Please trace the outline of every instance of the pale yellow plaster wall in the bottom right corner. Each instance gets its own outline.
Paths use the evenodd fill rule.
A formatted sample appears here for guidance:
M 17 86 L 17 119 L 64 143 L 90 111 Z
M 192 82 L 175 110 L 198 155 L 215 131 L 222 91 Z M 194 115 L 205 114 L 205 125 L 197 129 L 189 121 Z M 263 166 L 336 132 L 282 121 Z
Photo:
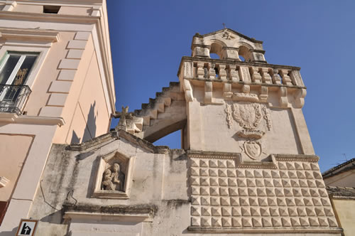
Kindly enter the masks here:
M 333 208 L 337 213 L 340 227 L 344 229 L 345 236 L 354 235 L 355 232 L 355 200 L 333 199 Z

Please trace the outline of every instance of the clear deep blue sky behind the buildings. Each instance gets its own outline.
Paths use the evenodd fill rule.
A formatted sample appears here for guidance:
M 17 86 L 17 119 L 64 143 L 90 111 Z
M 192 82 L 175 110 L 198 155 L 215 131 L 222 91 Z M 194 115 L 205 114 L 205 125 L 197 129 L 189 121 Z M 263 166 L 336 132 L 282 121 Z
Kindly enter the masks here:
M 303 113 L 321 170 L 355 157 L 355 1 L 107 0 L 107 8 L 118 110 L 140 109 L 178 81 L 192 36 L 226 23 L 263 41 L 268 63 L 301 68 Z M 179 135 L 155 144 L 180 148 Z

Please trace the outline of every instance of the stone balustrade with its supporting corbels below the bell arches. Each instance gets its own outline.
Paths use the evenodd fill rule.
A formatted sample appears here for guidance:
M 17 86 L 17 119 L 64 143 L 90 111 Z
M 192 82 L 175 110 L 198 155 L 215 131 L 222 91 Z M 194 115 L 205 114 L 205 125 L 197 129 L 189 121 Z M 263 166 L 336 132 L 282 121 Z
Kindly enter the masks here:
M 223 100 L 268 102 L 271 90 L 278 94 L 278 104 L 273 106 L 285 108 L 293 102 L 293 107 L 302 108 L 305 104 L 306 87 L 300 68 L 293 66 L 183 57 L 178 77 L 187 102 L 195 99 L 193 85 L 204 82 L 204 104 L 223 104 Z M 217 99 L 212 93 L 215 86 L 221 88 L 214 85 L 219 82 L 223 96 Z M 291 100 L 289 95 L 293 96 Z

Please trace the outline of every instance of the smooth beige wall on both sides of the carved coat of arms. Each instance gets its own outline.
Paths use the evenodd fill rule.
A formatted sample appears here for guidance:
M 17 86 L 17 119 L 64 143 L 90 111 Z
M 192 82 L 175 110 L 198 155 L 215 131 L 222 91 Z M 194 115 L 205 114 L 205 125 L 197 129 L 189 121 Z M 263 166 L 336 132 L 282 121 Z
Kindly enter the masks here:
M 189 102 L 190 148 L 204 151 L 224 151 L 242 153 L 244 139 L 236 132 L 242 127 L 232 118 L 231 127 L 226 121 L 225 104 L 204 104 L 204 90 L 195 87 L 196 100 Z M 221 97 L 215 92 L 215 99 Z M 201 103 L 200 103 L 201 102 Z M 221 102 L 222 103 L 222 102 Z M 262 104 L 263 105 L 263 104 Z M 261 119 L 256 129 L 265 132 L 259 140 L 263 147 L 263 155 L 269 154 L 302 154 L 297 136 L 295 118 L 291 109 L 280 109 L 266 105 L 271 118 L 271 130 L 266 127 L 266 120 Z

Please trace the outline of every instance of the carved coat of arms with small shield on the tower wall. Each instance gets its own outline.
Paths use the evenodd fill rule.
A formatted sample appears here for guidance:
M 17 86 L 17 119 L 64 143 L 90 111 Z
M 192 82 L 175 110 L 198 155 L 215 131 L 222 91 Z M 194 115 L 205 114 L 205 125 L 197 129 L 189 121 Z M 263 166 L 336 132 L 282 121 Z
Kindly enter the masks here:
M 232 129 L 234 122 L 241 127 L 236 135 L 244 140 L 241 145 L 243 154 L 253 161 L 260 161 L 261 154 L 265 152 L 261 139 L 271 130 L 271 119 L 266 105 L 256 102 L 226 102 L 224 111 L 229 129 Z

